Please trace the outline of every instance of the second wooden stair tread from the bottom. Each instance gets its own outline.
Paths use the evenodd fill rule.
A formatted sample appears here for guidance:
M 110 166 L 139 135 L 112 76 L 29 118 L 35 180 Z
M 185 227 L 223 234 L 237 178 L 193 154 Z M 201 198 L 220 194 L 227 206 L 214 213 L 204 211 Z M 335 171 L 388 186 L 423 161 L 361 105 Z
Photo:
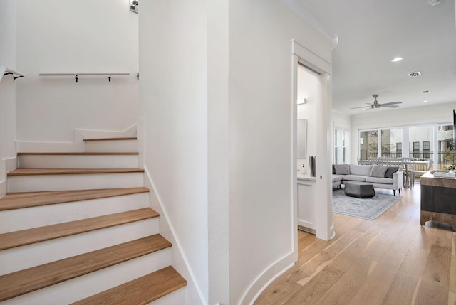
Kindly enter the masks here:
M 170 246 L 171 243 L 169 241 L 157 234 L 5 274 L 0 276 L 0 301 L 73 279 L 83 274 L 95 272 Z

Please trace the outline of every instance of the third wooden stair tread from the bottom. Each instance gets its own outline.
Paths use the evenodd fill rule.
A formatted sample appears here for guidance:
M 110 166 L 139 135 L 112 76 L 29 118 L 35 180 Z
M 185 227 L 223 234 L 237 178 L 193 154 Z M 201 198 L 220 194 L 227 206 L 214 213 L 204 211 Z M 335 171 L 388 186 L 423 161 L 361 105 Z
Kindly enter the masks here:
M 134 221 L 145 220 L 157 216 L 158 213 L 155 212 L 155 210 L 152 210 L 151 208 L 142 208 L 139 210 L 130 210 L 128 212 L 74 220 L 68 223 L 58 223 L 56 225 L 46 225 L 38 228 L 3 233 L 0 234 L 0 250 L 109 228 L 124 223 L 133 223 Z

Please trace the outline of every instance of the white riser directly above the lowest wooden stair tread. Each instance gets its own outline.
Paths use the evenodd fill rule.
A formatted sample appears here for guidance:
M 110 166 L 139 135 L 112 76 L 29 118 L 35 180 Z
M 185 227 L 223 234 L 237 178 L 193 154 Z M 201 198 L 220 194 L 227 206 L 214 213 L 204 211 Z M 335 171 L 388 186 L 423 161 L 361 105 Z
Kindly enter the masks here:
M 167 267 L 170 264 L 170 257 L 170 248 L 167 248 L 38 291 L 33 291 L 23 296 L 18 296 L 1 304 L 70 304 Z

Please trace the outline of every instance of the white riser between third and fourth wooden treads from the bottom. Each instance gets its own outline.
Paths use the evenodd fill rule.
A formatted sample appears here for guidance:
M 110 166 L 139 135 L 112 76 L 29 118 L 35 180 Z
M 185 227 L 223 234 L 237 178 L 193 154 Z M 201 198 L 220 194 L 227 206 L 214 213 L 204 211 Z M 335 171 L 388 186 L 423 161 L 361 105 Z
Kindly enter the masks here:
M 0 233 L 26 230 L 56 223 L 148 208 L 149 193 L 4 210 L 0 213 Z

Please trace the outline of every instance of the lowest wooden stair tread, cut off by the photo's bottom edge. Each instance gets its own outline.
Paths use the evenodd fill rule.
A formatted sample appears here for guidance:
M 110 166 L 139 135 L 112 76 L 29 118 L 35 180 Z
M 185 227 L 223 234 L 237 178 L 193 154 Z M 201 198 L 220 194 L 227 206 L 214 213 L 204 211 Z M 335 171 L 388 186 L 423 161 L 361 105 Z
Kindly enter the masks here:
M 173 267 L 168 266 L 71 305 L 149 304 L 186 285 L 187 281 Z

